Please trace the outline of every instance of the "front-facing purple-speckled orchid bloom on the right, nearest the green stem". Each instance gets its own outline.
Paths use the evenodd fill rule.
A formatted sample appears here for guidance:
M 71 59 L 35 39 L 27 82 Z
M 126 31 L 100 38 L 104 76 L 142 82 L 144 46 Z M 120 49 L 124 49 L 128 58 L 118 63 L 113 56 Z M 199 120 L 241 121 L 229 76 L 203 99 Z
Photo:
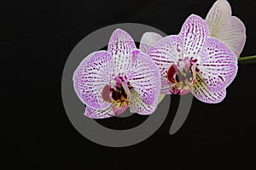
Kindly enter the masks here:
M 195 14 L 178 35 L 160 39 L 147 53 L 160 69 L 161 94 L 191 92 L 202 102 L 218 103 L 236 77 L 236 54 L 210 37 L 207 23 Z

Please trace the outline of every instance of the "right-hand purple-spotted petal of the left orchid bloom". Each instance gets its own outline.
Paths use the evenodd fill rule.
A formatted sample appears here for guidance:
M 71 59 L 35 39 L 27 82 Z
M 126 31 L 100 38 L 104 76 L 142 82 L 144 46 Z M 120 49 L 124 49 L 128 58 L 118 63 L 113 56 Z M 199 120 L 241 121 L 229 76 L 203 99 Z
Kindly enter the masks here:
M 160 94 L 160 72 L 148 54 L 140 50 L 132 52 L 131 69 L 127 80 L 147 105 L 152 105 Z

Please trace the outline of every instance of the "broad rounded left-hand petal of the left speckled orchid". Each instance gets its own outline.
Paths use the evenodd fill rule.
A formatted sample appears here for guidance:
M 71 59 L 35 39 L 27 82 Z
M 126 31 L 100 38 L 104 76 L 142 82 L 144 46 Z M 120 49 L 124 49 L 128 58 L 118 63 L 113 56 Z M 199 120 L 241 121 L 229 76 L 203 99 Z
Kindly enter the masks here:
M 112 57 L 107 51 L 87 56 L 73 74 L 73 85 L 79 99 L 94 109 L 107 109 L 110 103 L 102 99 L 102 89 L 113 75 Z

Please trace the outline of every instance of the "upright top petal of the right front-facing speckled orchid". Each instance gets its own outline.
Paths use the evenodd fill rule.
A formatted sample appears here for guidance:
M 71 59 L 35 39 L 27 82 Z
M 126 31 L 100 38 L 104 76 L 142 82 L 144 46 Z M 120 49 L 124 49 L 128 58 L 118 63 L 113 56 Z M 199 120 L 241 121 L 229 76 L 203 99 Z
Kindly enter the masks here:
M 183 37 L 183 57 L 200 60 L 201 48 L 209 35 L 205 20 L 191 14 L 183 23 L 179 33 L 179 36 Z

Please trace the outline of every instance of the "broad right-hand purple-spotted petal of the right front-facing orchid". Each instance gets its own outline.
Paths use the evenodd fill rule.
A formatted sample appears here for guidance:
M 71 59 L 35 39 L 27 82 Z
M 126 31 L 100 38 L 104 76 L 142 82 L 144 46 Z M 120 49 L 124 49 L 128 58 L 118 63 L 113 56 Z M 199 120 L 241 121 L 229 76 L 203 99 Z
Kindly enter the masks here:
M 230 85 L 236 77 L 236 54 L 217 38 L 208 37 L 197 68 L 207 87 L 212 92 L 218 92 Z

